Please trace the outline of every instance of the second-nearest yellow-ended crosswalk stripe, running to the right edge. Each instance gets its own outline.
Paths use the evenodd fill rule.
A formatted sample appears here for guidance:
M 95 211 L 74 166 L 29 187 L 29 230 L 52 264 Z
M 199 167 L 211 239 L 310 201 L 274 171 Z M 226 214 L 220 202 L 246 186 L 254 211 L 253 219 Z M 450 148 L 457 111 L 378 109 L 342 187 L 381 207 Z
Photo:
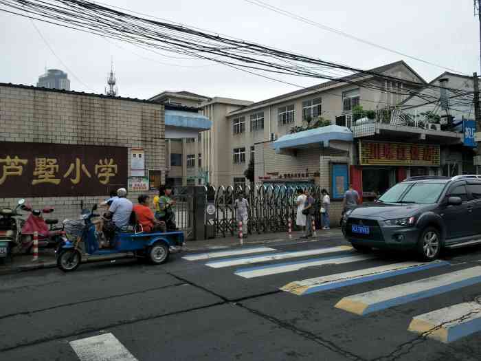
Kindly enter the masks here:
M 342 298 L 335 307 L 365 315 L 481 282 L 481 266 Z

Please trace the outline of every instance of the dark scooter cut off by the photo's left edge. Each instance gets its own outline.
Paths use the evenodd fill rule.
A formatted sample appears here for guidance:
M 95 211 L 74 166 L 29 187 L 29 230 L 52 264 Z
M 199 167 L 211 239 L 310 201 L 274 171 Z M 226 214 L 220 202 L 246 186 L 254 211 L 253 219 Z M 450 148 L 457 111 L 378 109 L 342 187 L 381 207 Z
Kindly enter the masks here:
M 25 203 L 25 199 L 20 199 L 17 206 L 12 208 L 0 209 L 0 262 L 5 259 L 12 259 L 13 249 L 18 245 L 18 226 L 15 217 L 19 216 L 16 210 Z

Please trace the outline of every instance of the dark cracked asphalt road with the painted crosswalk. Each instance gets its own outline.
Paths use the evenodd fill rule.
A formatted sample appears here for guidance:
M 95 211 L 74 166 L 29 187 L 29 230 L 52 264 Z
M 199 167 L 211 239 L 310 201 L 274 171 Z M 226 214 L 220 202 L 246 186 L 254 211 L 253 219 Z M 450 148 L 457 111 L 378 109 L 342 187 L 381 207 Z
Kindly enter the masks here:
M 412 265 L 409 254 L 346 245 L 322 239 L 197 260 L 174 254 L 161 266 L 122 260 L 4 275 L 0 360 L 481 360 L 481 305 L 479 315 L 458 309 L 481 295 L 480 247 Z M 443 324 L 432 316 L 429 331 L 408 330 L 438 309 Z

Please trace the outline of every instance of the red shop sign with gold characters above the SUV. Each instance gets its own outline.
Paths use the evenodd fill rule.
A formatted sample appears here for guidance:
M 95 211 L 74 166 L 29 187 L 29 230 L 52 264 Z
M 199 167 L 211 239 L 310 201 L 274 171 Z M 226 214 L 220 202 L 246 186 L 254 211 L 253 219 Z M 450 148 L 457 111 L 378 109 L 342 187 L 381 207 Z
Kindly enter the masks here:
M 439 146 L 391 142 L 359 142 L 361 166 L 439 166 Z

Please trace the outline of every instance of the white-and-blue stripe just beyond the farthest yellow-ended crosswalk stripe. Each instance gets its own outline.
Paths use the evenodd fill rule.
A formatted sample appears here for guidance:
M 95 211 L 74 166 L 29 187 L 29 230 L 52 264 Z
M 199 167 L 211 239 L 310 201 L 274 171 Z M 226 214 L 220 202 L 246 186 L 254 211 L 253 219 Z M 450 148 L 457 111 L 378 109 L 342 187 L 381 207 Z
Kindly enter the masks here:
M 342 263 L 366 261 L 373 259 L 375 256 L 370 254 L 355 254 L 353 256 L 336 256 L 324 257 L 320 259 L 309 259 L 307 261 L 296 261 L 287 263 L 278 263 L 275 265 L 265 265 L 260 267 L 241 268 L 236 270 L 234 274 L 244 278 L 254 278 L 261 276 L 269 276 L 271 274 L 280 274 L 286 272 L 294 272 L 302 270 L 303 268 L 313 267 L 318 265 L 340 265 Z

